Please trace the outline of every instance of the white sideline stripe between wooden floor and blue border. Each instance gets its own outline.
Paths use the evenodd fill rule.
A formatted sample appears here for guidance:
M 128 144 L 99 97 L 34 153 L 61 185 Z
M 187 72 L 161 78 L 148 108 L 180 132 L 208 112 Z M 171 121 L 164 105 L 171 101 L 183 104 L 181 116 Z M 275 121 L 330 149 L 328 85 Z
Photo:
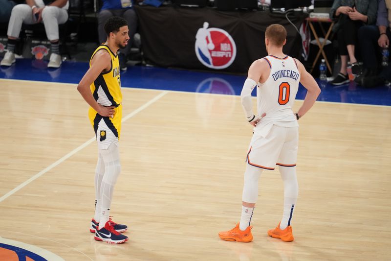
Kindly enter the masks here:
M 24 82 L 42 82 L 42 83 L 55 83 L 55 84 L 68 84 L 68 85 L 77 85 L 77 83 L 66 83 L 66 82 L 45 82 L 45 81 L 33 81 L 33 80 L 19 80 L 19 79 L 4 79 L 0 78 L 0 80 L 7 81 L 24 81 Z M 147 89 L 147 88 L 137 88 L 137 87 L 126 87 L 122 86 L 121 88 L 126 88 L 130 90 L 143 90 L 143 91 L 152 91 L 152 92 L 169 92 L 169 93 L 179 93 L 179 94 L 196 94 L 196 95 L 216 95 L 216 96 L 233 96 L 238 97 L 240 95 L 230 95 L 230 94 L 209 94 L 209 93 L 196 93 L 196 92 L 185 92 L 185 91 L 174 91 L 174 90 L 164 90 L 164 89 Z M 257 97 L 252 96 L 253 99 Z M 296 100 L 304 100 L 304 99 L 296 99 Z M 383 107 L 389 108 L 391 105 L 379 105 L 379 104 L 366 104 L 366 103 L 350 103 L 350 102 L 340 102 L 340 101 L 326 101 L 326 100 L 317 100 L 317 103 L 330 103 L 330 104 L 343 104 L 343 105 L 354 105 L 354 106 L 368 106 L 368 107 Z

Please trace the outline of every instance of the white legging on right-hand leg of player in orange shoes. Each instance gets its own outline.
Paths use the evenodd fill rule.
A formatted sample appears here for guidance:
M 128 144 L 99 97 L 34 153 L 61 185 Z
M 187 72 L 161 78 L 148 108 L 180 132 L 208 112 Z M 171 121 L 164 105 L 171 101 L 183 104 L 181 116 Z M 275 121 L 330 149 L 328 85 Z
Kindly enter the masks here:
M 280 173 L 284 182 L 284 211 L 280 223 L 280 229 L 283 230 L 287 226 L 290 226 L 299 194 L 299 186 L 296 178 L 296 167 L 280 166 Z

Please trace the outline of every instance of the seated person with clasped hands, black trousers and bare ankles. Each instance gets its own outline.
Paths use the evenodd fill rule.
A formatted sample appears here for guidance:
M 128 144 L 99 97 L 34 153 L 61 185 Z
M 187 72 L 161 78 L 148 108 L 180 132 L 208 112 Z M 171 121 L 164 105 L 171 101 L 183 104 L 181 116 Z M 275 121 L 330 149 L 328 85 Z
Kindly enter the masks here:
M 337 77 L 331 81 L 332 84 L 341 85 L 349 82 L 348 58 L 352 65 L 352 73 L 359 74 L 361 72 L 361 67 L 354 54 L 357 44 L 357 30 L 365 24 L 374 24 L 376 11 L 377 0 L 334 0 L 330 10 L 330 18 L 338 21 L 333 30 L 337 32 L 341 70 Z

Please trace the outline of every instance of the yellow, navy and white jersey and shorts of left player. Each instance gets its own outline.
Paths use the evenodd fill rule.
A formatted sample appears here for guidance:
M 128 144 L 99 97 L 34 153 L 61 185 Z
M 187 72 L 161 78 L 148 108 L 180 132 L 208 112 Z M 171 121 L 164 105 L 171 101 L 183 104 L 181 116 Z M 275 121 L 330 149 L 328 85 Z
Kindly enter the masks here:
M 88 118 L 94 128 L 98 138 L 98 143 L 111 143 L 113 139 L 119 140 L 121 132 L 122 119 L 122 93 L 121 80 L 119 76 L 119 60 L 106 45 L 99 46 L 91 56 L 94 57 L 98 51 L 107 51 L 111 57 L 111 69 L 99 74 L 95 81 L 91 84 L 91 93 L 95 100 L 102 106 L 115 106 L 114 117 L 102 117 L 92 107 L 89 108 Z M 91 67 L 91 60 L 89 66 Z M 109 133 L 108 133 L 109 132 Z M 108 133 L 108 135 L 107 135 Z M 103 137 L 104 134 L 104 137 Z M 107 136 L 107 137 L 106 137 Z

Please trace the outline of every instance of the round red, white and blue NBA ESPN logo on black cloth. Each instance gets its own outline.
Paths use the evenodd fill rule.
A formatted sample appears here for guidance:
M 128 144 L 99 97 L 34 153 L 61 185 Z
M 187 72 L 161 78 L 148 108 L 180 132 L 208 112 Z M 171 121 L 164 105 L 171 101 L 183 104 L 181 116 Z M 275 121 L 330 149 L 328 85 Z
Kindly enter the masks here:
M 206 67 L 224 69 L 230 66 L 236 57 L 234 39 L 219 28 L 208 28 L 205 22 L 195 35 L 195 54 Z

